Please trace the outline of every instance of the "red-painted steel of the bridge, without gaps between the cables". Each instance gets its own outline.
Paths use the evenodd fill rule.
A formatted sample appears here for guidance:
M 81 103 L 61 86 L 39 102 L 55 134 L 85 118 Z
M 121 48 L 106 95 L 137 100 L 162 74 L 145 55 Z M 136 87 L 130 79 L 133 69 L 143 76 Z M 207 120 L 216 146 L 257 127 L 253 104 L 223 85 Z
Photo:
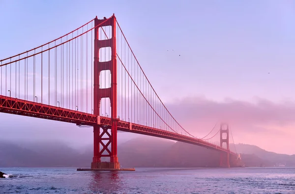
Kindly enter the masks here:
M 93 21 L 93 20 L 91 20 L 91 21 Z M 89 24 L 89 23 L 87 23 L 87 24 Z M 17 61 L 24 60 L 24 59 L 27 59 L 32 56 L 34 57 L 35 55 L 42 54 L 45 51 L 50 51 L 52 49 L 56 49 L 58 46 L 61 46 L 61 45 L 63 46 L 65 43 L 68 43 L 69 41 L 72 41 L 78 37 L 80 37 L 80 40 L 81 40 L 81 36 L 83 34 L 94 29 L 94 47 L 93 47 L 94 48 L 94 61 L 93 61 L 93 76 L 94 76 L 93 105 L 94 105 L 94 107 L 93 107 L 93 114 L 42 104 L 42 92 L 43 92 L 42 83 L 41 83 L 41 103 L 36 103 L 36 102 L 31 102 L 31 101 L 27 101 L 27 100 L 21 100 L 21 99 L 17 99 L 17 98 L 11 98 L 11 97 L 0 95 L 0 112 L 19 114 L 19 115 L 36 117 L 36 118 L 44 118 L 44 119 L 50 119 L 50 120 L 57 120 L 57 121 L 63 121 L 63 122 L 69 122 L 69 123 L 76 123 L 77 125 L 93 126 L 94 153 L 93 153 L 91 168 L 119 168 L 120 167 L 119 163 L 118 163 L 118 157 L 117 157 L 117 130 L 130 132 L 130 133 L 143 134 L 143 135 L 148 135 L 148 136 L 154 136 L 154 137 L 159 137 L 159 138 L 164 138 L 164 139 L 172 139 L 172 140 L 177 140 L 177 141 L 182 141 L 182 142 L 186 142 L 186 143 L 190 143 L 190 144 L 203 146 L 208 149 L 213 149 L 213 150 L 220 152 L 220 166 L 221 167 L 230 167 L 230 158 L 236 157 L 236 153 L 232 152 L 229 149 L 229 126 L 226 124 L 221 124 L 221 126 L 220 126 L 220 130 L 219 130 L 219 132 L 220 132 L 220 146 L 215 145 L 213 143 L 209 143 L 209 142 L 205 141 L 206 139 L 202 140 L 202 139 L 197 139 L 197 138 L 193 137 L 192 135 L 190 135 L 187 131 L 185 131 L 179 125 L 179 123 L 175 120 L 175 118 L 166 109 L 166 107 L 164 106 L 164 104 L 160 100 L 159 96 L 155 93 L 153 87 L 151 86 L 151 84 L 149 83 L 149 81 L 147 79 L 147 82 L 150 84 L 151 89 L 154 91 L 156 97 L 159 99 L 159 101 L 163 105 L 164 109 L 168 112 L 169 115 L 171 115 L 173 121 L 175 121 L 177 123 L 177 125 L 179 125 L 181 130 L 183 130 L 186 135 L 179 134 L 179 131 L 177 133 L 175 131 L 175 129 L 173 129 L 175 127 L 172 127 L 173 125 L 172 126 L 169 125 L 169 121 L 171 121 L 171 120 L 169 120 L 169 119 L 167 120 L 167 117 L 165 117 L 168 114 L 167 115 L 164 114 L 163 118 L 162 118 L 163 115 L 159 115 L 159 113 L 155 110 L 155 108 L 150 104 L 147 97 L 144 95 L 145 90 L 142 91 L 140 89 L 140 86 L 138 86 L 138 84 L 136 84 L 136 82 L 134 81 L 134 79 L 132 78 L 130 73 L 128 72 L 126 66 L 123 64 L 123 61 L 118 56 L 117 48 L 116 48 L 116 45 L 117 45 L 116 44 L 117 43 L 116 25 L 118 25 L 118 23 L 117 23 L 115 15 L 113 15 L 112 17 L 110 17 L 108 19 L 103 19 L 103 20 L 99 20 L 96 17 L 94 19 L 94 28 L 91 27 L 91 29 L 88 29 L 88 26 L 87 26 L 87 29 L 88 29 L 87 31 L 82 32 L 81 34 L 77 35 L 76 37 L 72 37 L 69 40 L 67 39 L 67 41 L 65 41 L 65 42 L 61 42 L 58 45 L 50 47 L 49 43 L 52 43 L 52 42 L 55 42 L 56 40 L 58 40 L 58 39 L 56 39 L 54 41 L 51 41 L 47 44 L 44 44 L 44 45 L 41 45 L 41 46 L 35 48 L 35 49 L 42 48 L 43 46 L 48 45 L 48 49 L 43 50 L 43 48 L 42 48 L 40 52 L 30 54 L 30 55 L 28 55 L 29 51 L 27 51 L 27 52 L 21 53 L 19 55 L 12 56 L 12 57 L 19 56 L 19 58 L 13 59 L 12 57 L 9 57 L 9 58 L 5 58 L 5 59 L 0 60 L 0 62 L 1 62 L 0 66 L 10 64 L 10 68 L 11 68 L 11 64 L 14 62 L 16 64 Z M 82 31 L 83 31 L 84 26 L 80 27 L 80 28 L 82 28 Z M 112 27 L 112 37 L 107 38 L 106 40 L 99 40 L 99 35 L 101 35 L 101 34 L 99 34 L 99 28 L 100 27 L 108 27 L 108 26 Z M 80 28 L 77 28 L 77 29 L 80 29 Z M 119 26 L 118 26 L 118 29 L 120 29 Z M 72 32 L 70 32 L 70 33 L 72 33 Z M 68 34 L 70 34 L 70 33 L 68 33 Z M 106 32 L 104 31 L 104 33 L 106 33 Z M 66 34 L 64 36 L 67 37 L 68 34 Z M 125 38 L 125 35 L 123 33 L 122 33 L 122 35 Z M 64 37 L 64 36 L 62 36 L 62 37 Z M 60 37 L 60 38 L 62 38 L 62 37 Z M 92 33 L 91 33 L 91 37 L 92 37 Z M 118 35 L 118 37 L 119 37 L 119 35 Z M 127 42 L 127 40 L 126 40 L 126 42 Z M 130 48 L 128 42 L 127 42 L 127 45 Z M 121 43 L 121 46 L 122 46 L 122 43 Z M 73 47 L 73 43 L 72 43 L 72 47 Z M 99 52 L 101 49 L 106 48 L 106 47 L 111 48 L 111 60 L 110 61 L 100 61 Z M 67 48 L 67 46 L 66 46 L 66 48 Z M 75 48 L 76 48 L 76 43 L 75 43 Z M 81 47 L 81 50 L 83 50 L 82 48 L 83 47 Z M 91 48 L 92 48 L 92 45 L 91 45 Z M 35 49 L 33 49 L 33 50 L 35 50 Z M 118 46 L 118 49 L 119 49 L 119 46 Z M 30 51 L 33 51 L 33 50 L 30 50 Z M 131 50 L 131 48 L 130 48 L 130 50 Z M 62 50 L 62 52 L 63 52 L 63 50 Z M 73 49 L 72 49 L 72 53 L 73 53 Z M 132 50 L 131 50 L 131 53 L 134 56 L 134 62 L 137 61 Z M 20 57 L 20 55 L 23 55 L 23 54 L 27 54 L 27 56 L 24 55 L 24 56 Z M 49 54 L 50 53 L 48 53 L 48 56 L 49 56 Z M 67 55 L 67 53 L 66 53 L 66 55 Z M 60 57 L 61 57 L 61 54 L 60 54 Z M 62 57 L 63 57 L 63 55 L 62 55 Z M 91 57 L 92 57 L 92 55 L 91 55 Z M 122 120 L 118 119 L 118 115 L 119 116 L 121 116 L 121 115 L 120 115 L 120 113 L 117 114 L 117 110 L 118 110 L 118 107 L 117 107 L 117 103 L 118 103 L 118 101 L 117 101 L 117 98 L 118 98 L 118 93 L 117 93 L 117 84 L 118 84 L 118 82 L 117 82 L 117 79 L 118 79 L 117 57 L 118 57 L 118 61 L 124 67 L 124 70 L 126 71 L 125 72 L 126 75 L 128 75 L 130 77 L 131 81 L 135 84 L 136 88 L 138 89 L 139 94 L 142 95 L 141 100 L 143 102 L 146 101 L 148 103 L 148 106 L 151 108 L 151 111 L 154 111 L 155 115 L 157 115 L 160 118 L 160 120 L 163 121 L 163 123 L 168 126 L 169 129 L 167 131 L 158 129 L 161 126 L 156 126 L 156 128 L 153 128 L 153 127 L 149 127 L 149 126 L 145 126 L 145 125 L 139 125 L 139 124 L 132 123 L 132 122 L 135 122 L 134 120 L 132 120 L 132 118 L 130 120 L 131 122 L 126 122 L 126 121 L 122 121 L 123 119 Z M 129 54 L 128 54 L 128 57 L 129 57 Z M 131 59 L 132 59 L 132 57 L 131 57 Z M 55 60 L 57 60 L 57 58 L 55 58 Z M 41 66 L 42 66 L 42 61 L 43 60 L 42 60 L 42 55 L 41 55 Z M 73 61 L 73 59 L 72 59 L 72 61 Z M 128 61 L 129 61 L 129 58 L 128 58 Z M 137 61 L 137 63 L 138 63 L 138 61 Z M 131 64 L 132 64 L 132 62 L 131 62 Z M 25 65 L 26 65 L 26 60 L 25 60 Z M 138 65 L 139 65 L 139 63 L 138 63 Z M 28 60 L 27 60 L 27 66 L 28 66 Z M 50 63 L 48 62 L 48 67 L 49 66 L 50 66 Z M 140 65 L 139 65 L 139 67 L 142 70 Z M 66 69 L 67 69 L 67 67 L 66 67 Z M 129 69 L 129 67 L 128 67 L 128 69 Z M 15 65 L 15 70 L 16 70 L 16 65 Z M 101 84 L 100 83 L 100 74 L 104 70 L 109 70 L 111 72 L 111 86 L 109 88 L 100 88 L 100 84 Z M 26 71 L 26 69 L 25 69 L 25 71 Z M 83 69 L 82 69 L 82 71 L 83 71 Z M 41 70 L 41 72 L 42 72 L 42 70 Z M 142 70 L 142 72 L 143 72 L 143 70 Z M 10 69 L 10 73 L 11 73 L 11 69 Z M 28 70 L 27 70 L 27 73 L 28 73 Z M 132 68 L 131 68 L 131 73 L 132 73 Z M 73 72 L 72 72 L 72 74 L 73 74 Z M 1 73 L 1 76 L 2 76 L 2 73 Z M 6 74 L 5 74 L 5 76 L 6 76 Z M 144 72 L 143 72 L 143 76 L 145 76 L 145 78 L 147 78 L 146 74 Z M 49 77 L 50 77 L 50 75 L 49 75 Z M 15 79 L 16 79 L 16 77 L 15 77 Z M 1 77 L 1 80 L 2 80 L 2 77 Z M 10 80 L 11 80 L 11 76 L 10 76 Z M 83 77 L 82 77 L 82 80 L 83 80 Z M 91 77 L 91 80 L 92 80 L 92 77 Z M 137 78 L 137 80 L 138 80 L 138 78 Z M 141 76 L 140 76 L 140 80 L 141 80 Z M 42 80 L 41 80 L 41 82 L 42 82 Z M 126 82 L 126 80 L 125 80 L 125 82 Z M 6 81 L 5 81 L 5 84 L 6 84 Z M 10 81 L 10 84 L 11 84 L 11 81 Z M 25 83 L 25 85 L 26 85 L 26 83 Z M 126 83 L 125 83 L 125 86 L 126 86 Z M 128 81 L 128 87 L 129 87 L 129 81 Z M 15 86 L 15 88 L 16 88 L 16 86 Z M 50 88 L 50 86 L 48 86 L 48 88 Z M 81 88 L 82 88 L 82 84 L 81 84 Z M 28 86 L 27 86 L 27 90 L 28 90 Z M 2 89 L 1 89 L 1 91 L 2 91 Z M 10 90 L 8 90 L 8 91 L 11 92 Z M 132 87 L 131 87 L 131 92 L 132 92 Z M 146 92 L 147 92 L 147 89 L 146 89 Z M 128 88 L 128 93 L 129 93 L 129 88 Z M 81 93 L 81 95 L 82 95 L 82 93 Z M 16 96 L 16 93 L 15 93 L 15 96 Z M 26 93 L 25 93 L 25 96 L 26 96 Z M 37 97 L 37 96 L 35 96 L 35 97 Z M 48 96 L 48 98 L 50 99 L 49 96 Z M 110 117 L 99 116 L 101 113 L 100 112 L 100 106 L 101 106 L 100 103 L 101 103 L 102 98 L 109 98 L 110 99 L 110 104 L 111 104 L 111 107 L 110 107 L 111 116 Z M 129 101 L 129 99 L 128 99 L 128 101 Z M 81 100 L 81 104 L 82 104 L 82 100 Z M 129 104 L 128 104 L 128 107 L 129 107 Z M 131 108 L 132 108 L 132 104 L 131 104 Z M 159 107 L 157 107 L 157 108 L 159 109 Z M 78 109 L 78 107 L 77 107 L 77 109 Z M 123 109 L 123 108 L 121 108 L 121 109 Z M 126 109 L 126 105 L 125 105 L 125 109 Z M 138 109 L 141 109 L 141 108 L 138 107 Z M 129 115 L 129 113 L 128 113 L 128 115 Z M 138 115 L 137 115 L 137 117 L 138 117 Z M 127 120 L 127 118 L 125 118 L 125 120 Z M 167 121 L 168 121 L 168 123 L 167 123 Z M 223 129 L 223 127 L 225 125 L 226 125 L 226 129 Z M 212 132 L 212 130 L 211 130 L 211 132 Z M 223 134 L 226 135 L 225 139 L 223 139 Z M 216 133 L 216 135 L 218 135 L 218 132 Z M 226 148 L 224 148 L 222 146 L 223 143 L 226 143 Z M 107 162 L 107 163 L 101 162 L 101 157 L 109 157 L 110 162 Z

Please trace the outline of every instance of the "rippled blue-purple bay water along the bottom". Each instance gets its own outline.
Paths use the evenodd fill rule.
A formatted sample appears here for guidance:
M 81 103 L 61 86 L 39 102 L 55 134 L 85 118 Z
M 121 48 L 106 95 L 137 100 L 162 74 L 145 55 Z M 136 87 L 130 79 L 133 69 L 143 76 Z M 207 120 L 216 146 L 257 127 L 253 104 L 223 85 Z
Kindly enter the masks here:
M 295 194 L 295 168 L 0 168 L 0 194 Z

